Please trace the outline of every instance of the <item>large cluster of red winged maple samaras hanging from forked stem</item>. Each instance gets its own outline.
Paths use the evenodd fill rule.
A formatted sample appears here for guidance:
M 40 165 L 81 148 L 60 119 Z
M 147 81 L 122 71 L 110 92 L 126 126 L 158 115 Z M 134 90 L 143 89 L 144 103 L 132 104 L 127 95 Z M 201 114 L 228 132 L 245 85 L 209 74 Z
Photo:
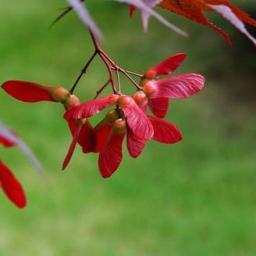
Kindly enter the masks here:
M 164 121 L 169 99 L 191 97 L 204 87 L 204 77 L 195 73 L 169 76 L 183 62 L 185 54 L 167 58 L 145 72 L 140 81 L 141 89 L 132 97 L 113 94 L 80 103 L 79 98 L 63 87 L 49 87 L 28 81 L 7 81 L 2 88 L 18 100 L 28 103 L 42 100 L 63 103 L 73 140 L 63 163 L 67 167 L 76 144 L 84 153 L 99 153 L 99 169 L 103 177 L 110 177 L 122 159 L 122 143 L 127 135 L 129 154 L 136 158 L 148 140 L 160 143 L 177 143 L 182 135 L 174 124 Z M 89 117 L 104 108 L 113 106 L 105 118 L 92 127 Z M 153 116 L 147 113 L 151 109 Z

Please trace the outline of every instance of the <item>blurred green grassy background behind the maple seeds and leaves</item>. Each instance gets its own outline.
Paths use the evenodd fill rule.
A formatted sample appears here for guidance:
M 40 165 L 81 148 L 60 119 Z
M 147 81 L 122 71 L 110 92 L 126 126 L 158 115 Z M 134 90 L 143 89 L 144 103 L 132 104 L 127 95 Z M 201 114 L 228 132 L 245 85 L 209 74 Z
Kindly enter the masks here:
M 254 0 L 232 2 L 256 17 Z M 60 171 L 71 140 L 62 105 L 29 105 L 0 91 L 1 120 L 17 130 L 45 169 L 41 177 L 20 151 L 0 148 L 28 195 L 23 210 L 0 195 L 0 255 L 256 255 L 255 47 L 215 14 L 209 17 L 230 33 L 233 47 L 168 12 L 159 10 L 190 39 L 153 19 L 144 34 L 138 13 L 130 19 L 125 5 L 87 5 L 116 63 L 143 73 L 187 52 L 176 73 L 204 74 L 207 87 L 191 99 L 172 101 L 167 119 L 182 130 L 181 143 L 152 141 L 139 159 L 124 148 L 124 161 L 108 180 L 100 177 L 97 155 L 83 155 L 80 148 Z M 74 14 L 48 29 L 60 7 L 65 1 L 1 3 L 1 82 L 71 87 L 93 47 Z M 95 61 L 76 94 L 89 100 L 107 77 L 103 63 Z M 122 85 L 132 92 L 125 78 Z

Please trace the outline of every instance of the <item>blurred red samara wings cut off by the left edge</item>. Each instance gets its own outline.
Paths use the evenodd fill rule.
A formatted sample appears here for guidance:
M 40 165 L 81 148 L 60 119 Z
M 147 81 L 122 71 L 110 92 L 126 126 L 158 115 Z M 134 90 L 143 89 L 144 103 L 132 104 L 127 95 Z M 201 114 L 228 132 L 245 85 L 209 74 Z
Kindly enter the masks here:
M 0 135 L 0 144 L 4 147 L 15 146 L 16 143 L 9 140 L 8 137 Z M 19 181 L 15 178 L 9 168 L 0 159 L 0 187 L 7 195 L 7 197 L 20 208 L 25 207 L 26 199 L 25 193 Z

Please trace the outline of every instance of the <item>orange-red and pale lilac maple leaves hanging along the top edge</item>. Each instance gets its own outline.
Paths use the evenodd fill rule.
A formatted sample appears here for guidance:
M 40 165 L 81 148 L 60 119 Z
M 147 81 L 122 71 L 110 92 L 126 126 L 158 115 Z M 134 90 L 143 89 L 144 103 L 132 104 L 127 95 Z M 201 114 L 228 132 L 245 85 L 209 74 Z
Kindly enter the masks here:
M 65 14 L 74 9 L 84 22 L 85 25 L 95 34 L 97 39 L 103 39 L 103 34 L 100 32 L 100 29 L 97 28 L 95 22 L 89 15 L 85 5 L 83 4 L 84 0 L 67 0 L 71 7 L 68 7 L 65 12 L 63 12 L 60 17 L 63 17 Z M 246 12 L 243 12 L 241 9 L 231 4 L 228 0 L 116 0 L 121 3 L 130 4 L 129 15 L 132 16 L 135 12 L 135 9 L 140 9 L 143 28 L 144 31 L 148 29 L 148 20 L 150 16 L 155 17 L 164 25 L 171 28 L 173 31 L 180 33 L 180 35 L 188 36 L 185 31 L 177 28 L 172 23 L 169 23 L 164 17 L 159 15 L 159 13 L 154 12 L 153 8 L 159 6 L 167 11 L 174 12 L 177 15 L 181 15 L 189 20 L 196 21 L 202 25 L 211 28 L 225 37 L 225 40 L 231 44 L 231 39 L 228 36 L 228 33 L 223 31 L 221 28 L 218 28 L 216 25 L 209 22 L 204 12 L 215 11 L 222 15 L 226 20 L 231 22 L 241 33 L 244 33 L 249 40 L 252 41 L 256 46 L 256 39 L 247 31 L 247 28 L 244 24 L 249 24 L 256 26 L 256 21 L 249 17 Z M 57 18 L 57 20 L 60 19 Z M 56 21 L 57 21 L 56 20 Z

